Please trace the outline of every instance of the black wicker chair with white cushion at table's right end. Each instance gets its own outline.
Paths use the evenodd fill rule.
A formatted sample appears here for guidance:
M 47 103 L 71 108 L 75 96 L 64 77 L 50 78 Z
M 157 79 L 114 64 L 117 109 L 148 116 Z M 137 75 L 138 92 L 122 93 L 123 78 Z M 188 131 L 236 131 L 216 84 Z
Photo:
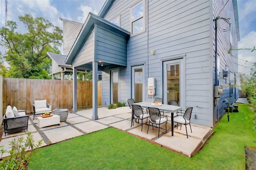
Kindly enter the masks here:
M 173 120 L 174 122 L 177 123 L 177 129 L 178 129 L 178 123 L 180 123 L 181 125 L 183 124 L 183 125 L 186 126 L 187 138 L 188 138 L 187 124 L 190 125 L 190 118 L 191 118 L 191 114 L 192 114 L 192 109 L 193 109 L 193 107 L 188 107 L 183 116 L 174 117 L 174 120 Z M 180 129 L 181 129 L 181 125 L 180 125 Z M 191 133 L 192 133 L 191 125 L 190 125 L 190 130 L 191 130 Z

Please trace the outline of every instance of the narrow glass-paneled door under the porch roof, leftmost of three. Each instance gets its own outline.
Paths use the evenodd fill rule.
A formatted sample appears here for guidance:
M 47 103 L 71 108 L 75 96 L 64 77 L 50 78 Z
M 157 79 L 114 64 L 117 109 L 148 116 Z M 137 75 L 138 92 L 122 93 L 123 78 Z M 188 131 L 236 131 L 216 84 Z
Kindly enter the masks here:
M 119 101 L 119 71 L 111 71 L 111 103 L 117 104 Z

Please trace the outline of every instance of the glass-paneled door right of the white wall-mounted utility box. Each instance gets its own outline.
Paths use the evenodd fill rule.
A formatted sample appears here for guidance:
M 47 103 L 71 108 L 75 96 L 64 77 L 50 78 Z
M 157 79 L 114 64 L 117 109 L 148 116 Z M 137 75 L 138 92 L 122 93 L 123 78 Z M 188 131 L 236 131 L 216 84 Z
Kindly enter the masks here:
M 180 105 L 182 59 L 164 62 L 164 103 L 176 100 Z

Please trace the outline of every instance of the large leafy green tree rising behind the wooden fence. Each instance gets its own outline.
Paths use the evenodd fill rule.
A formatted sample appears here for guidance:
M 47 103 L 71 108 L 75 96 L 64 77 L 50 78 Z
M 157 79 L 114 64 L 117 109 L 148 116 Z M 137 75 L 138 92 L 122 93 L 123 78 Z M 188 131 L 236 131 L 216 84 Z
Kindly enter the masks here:
M 34 19 L 25 14 L 19 19 L 27 33 L 15 32 L 18 26 L 14 21 L 7 21 L 6 27 L 0 28 L 0 45 L 7 49 L 0 56 L 10 65 L 7 72 L 0 73 L 4 77 L 50 79 L 51 60 L 46 52 L 60 53 L 62 30 L 42 17 Z

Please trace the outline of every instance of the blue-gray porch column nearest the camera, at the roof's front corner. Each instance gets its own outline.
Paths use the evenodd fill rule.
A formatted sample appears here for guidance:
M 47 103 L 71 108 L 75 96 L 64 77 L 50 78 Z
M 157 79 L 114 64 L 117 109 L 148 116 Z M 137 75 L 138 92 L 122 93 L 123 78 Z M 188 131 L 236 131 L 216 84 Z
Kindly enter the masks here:
M 98 119 L 98 62 L 92 62 L 92 119 Z

